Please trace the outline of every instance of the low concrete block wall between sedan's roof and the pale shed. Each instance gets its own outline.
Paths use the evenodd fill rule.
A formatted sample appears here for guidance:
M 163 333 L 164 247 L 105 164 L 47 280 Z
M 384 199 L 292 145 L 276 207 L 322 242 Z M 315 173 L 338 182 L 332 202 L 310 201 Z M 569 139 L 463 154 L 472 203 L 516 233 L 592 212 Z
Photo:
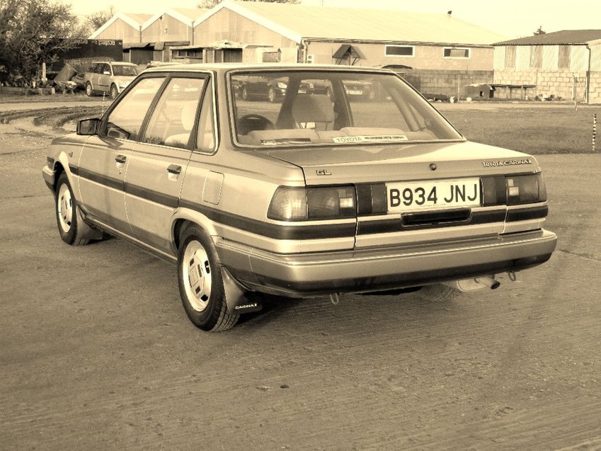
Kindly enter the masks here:
M 493 82 L 492 70 L 434 70 L 413 69 L 402 74 L 414 88 L 422 93 L 445 94 L 445 96 L 466 98 L 466 86 Z

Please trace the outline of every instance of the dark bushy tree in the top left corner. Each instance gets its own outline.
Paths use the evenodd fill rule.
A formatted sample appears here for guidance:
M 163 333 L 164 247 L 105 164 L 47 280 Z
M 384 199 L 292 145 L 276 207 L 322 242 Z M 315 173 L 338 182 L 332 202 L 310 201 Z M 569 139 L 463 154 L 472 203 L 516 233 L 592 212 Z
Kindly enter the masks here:
M 82 38 L 71 5 L 50 0 L 0 3 L 0 66 L 8 74 L 33 81 L 43 62 L 74 47 L 69 38 Z

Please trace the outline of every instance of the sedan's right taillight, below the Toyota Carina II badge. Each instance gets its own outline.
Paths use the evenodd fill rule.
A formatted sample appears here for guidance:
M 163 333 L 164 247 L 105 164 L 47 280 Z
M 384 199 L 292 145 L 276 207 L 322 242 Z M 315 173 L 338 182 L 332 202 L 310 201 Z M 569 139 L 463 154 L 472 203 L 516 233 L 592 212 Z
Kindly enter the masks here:
M 482 178 L 483 205 L 519 205 L 546 200 L 542 174 Z

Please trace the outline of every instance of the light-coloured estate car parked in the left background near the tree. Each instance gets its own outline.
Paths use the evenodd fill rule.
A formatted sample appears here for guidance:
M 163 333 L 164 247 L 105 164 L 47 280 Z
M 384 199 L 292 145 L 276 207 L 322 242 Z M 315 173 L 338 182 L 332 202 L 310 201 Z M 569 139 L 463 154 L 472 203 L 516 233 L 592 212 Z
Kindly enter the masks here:
M 93 64 L 84 74 L 84 87 L 88 96 L 98 93 L 108 93 L 110 98 L 116 98 L 123 89 L 140 73 L 142 69 L 137 64 L 128 62 L 99 62 Z

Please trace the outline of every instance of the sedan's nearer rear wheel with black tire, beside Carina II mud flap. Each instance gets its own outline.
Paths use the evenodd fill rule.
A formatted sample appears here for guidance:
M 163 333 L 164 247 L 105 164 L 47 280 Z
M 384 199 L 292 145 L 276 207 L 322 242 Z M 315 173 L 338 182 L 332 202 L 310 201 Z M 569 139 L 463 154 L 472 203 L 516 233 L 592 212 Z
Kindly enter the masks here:
M 217 251 L 210 236 L 196 224 L 181 232 L 178 285 L 185 313 L 203 331 L 225 331 L 239 315 L 227 312 Z

